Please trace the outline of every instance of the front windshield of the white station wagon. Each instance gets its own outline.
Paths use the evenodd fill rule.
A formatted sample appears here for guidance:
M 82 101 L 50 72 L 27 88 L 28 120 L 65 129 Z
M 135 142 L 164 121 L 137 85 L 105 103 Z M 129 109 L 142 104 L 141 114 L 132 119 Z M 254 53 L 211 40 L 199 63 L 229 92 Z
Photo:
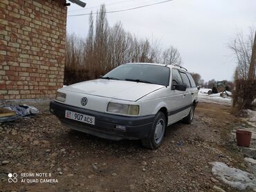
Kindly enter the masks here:
M 170 68 L 153 64 L 124 64 L 114 68 L 102 78 L 169 86 Z

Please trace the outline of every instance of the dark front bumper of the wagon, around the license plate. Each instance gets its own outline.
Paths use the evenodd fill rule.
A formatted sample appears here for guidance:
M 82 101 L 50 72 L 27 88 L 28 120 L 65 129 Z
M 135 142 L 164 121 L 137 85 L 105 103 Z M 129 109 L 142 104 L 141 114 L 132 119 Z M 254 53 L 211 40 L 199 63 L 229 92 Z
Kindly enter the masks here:
M 95 125 L 77 122 L 65 118 L 65 111 L 73 111 L 95 117 Z M 91 111 L 84 108 L 69 106 L 59 102 L 50 103 L 50 111 L 56 115 L 62 124 L 76 131 L 88 133 L 108 140 L 138 140 L 147 137 L 152 129 L 155 115 L 140 117 L 127 117 Z M 124 129 L 116 128 L 116 125 L 125 126 Z

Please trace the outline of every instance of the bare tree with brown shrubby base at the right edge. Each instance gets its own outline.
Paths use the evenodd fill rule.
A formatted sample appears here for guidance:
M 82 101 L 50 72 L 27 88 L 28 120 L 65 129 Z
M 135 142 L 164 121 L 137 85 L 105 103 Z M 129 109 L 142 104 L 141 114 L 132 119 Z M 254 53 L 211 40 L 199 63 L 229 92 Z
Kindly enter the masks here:
M 236 111 L 250 108 L 256 97 L 256 32 L 250 28 L 249 35 L 237 34 L 229 45 L 235 53 L 237 68 L 235 70 L 235 90 L 233 91 L 233 107 Z

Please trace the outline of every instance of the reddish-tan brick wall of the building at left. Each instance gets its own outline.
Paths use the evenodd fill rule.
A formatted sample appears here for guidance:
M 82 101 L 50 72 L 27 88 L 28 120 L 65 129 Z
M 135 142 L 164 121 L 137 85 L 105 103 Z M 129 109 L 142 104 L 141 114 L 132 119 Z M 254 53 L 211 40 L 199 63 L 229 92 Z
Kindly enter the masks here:
M 62 87 L 65 1 L 0 0 L 0 99 L 53 99 Z

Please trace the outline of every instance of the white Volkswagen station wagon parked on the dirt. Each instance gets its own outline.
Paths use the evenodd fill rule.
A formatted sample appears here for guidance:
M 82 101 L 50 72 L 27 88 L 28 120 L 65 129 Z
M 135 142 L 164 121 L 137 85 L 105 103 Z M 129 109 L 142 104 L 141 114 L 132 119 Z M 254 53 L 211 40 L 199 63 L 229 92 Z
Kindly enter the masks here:
M 58 89 L 50 111 L 76 131 L 109 140 L 141 140 L 155 149 L 167 126 L 181 119 L 192 122 L 197 95 L 185 68 L 132 63 L 100 79 Z

